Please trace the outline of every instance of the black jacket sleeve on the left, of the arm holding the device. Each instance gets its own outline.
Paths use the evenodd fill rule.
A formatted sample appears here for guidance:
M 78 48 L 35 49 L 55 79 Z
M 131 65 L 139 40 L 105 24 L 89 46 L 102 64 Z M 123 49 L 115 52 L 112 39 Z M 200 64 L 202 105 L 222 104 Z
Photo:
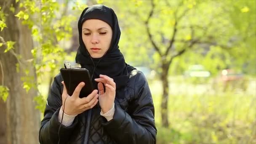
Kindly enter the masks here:
M 41 128 L 39 131 L 40 144 L 58 144 L 59 136 L 58 130 L 60 122 L 58 120 L 59 109 L 62 105 L 61 93 L 62 86 L 60 86 L 61 76 L 57 75 L 54 78 L 53 84 L 51 85 L 51 91 L 47 99 L 45 107 L 44 118 L 41 121 Z M 75 118 L 72 125 L 66 127 L 61 125 L 60 129 L 60 143 L 65 144 L 69 141 L 72 131 L 77 124 L 77 118 Z

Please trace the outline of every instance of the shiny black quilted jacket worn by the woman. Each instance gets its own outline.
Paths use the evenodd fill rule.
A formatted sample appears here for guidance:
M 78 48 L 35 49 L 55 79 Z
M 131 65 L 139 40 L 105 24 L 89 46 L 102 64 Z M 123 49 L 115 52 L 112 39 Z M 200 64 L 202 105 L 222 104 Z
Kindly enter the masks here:
M 156 127 L 154 106 L 149 86 L 143 73 L 134 69 L 125 87 L 124 98 L 115 98 L 112 120 L 100 115 L 99 104 L 93 107 L 88 144 L 155 144 Z M 59 109 L 62 105 L 62 77 L 57 75 L 47 99 L 44 118 L 39 132 L 40 144 L 57 144 Z M 77 115 L 72 125 L 61 125 L 61 144 L 83 144 L 87 112 Z

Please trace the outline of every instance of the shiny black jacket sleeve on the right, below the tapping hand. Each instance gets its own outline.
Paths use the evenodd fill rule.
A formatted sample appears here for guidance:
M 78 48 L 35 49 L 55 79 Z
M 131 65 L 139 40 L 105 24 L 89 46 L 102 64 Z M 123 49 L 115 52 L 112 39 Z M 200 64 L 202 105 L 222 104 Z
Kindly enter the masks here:
M 109 122 L 103 122 L 107 133 L 117 144 L 155 144 L 157 129 L 154 119 L 154 105 L 146 78 L 136 74 L 134 84 L 135 102 L 132 114 L 115 104 L 115 114 Z

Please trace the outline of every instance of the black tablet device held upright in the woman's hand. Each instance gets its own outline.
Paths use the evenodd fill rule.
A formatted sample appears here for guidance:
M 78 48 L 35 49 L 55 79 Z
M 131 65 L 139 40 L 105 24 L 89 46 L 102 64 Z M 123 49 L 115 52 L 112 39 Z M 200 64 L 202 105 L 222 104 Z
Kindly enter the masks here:
M 80 98 L 88 96 L 93 91 L 91 77 L 88 69 L 83 68 L 61 68 L 61 76 L 67 88 L 67 93 L 72 96 L 77 85 L 81 82 L 85 83 L 85 86 L 80 91 Z

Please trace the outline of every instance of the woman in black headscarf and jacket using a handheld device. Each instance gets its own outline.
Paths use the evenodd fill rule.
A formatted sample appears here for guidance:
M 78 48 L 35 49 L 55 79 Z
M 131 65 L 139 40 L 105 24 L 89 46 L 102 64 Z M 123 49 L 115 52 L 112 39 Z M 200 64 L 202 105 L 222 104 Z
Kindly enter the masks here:
M 118 49 L 120 28 L 115 12 L 104 5 L 85 8 L 78 31 L 76 62 L 89 70 L 95 90 L 80 99 L 80 90 L 86 86 L 80 83 L 68 96 L 57 75 L 41 122 L 40 143 L 155 144 L 149 86 L 141 72 L 125 63 Z

